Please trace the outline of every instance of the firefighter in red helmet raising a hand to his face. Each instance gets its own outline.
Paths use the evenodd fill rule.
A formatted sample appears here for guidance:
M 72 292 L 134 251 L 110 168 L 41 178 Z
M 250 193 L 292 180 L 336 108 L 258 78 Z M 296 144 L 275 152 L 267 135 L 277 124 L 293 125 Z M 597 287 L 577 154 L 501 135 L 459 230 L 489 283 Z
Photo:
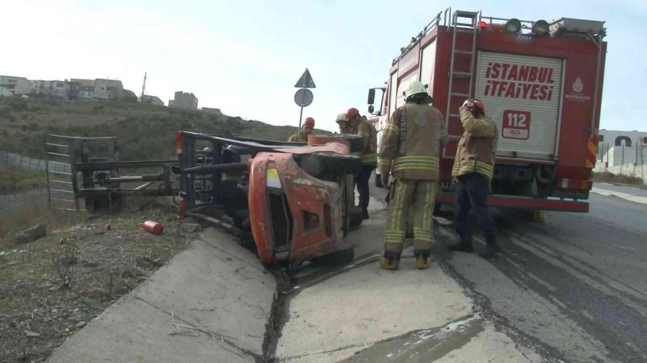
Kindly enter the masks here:
M 470 230 L 470 211 L 485 232 L 485 253 L 493 258 L 499 252 L 494 218 L 487 205 L 490 181 L 494 172 L 494 158 L 498 144 L 498 130 L 492 119 L 485 116 L 480 99 L 468 99 L 459 109 L 463 123 L 463 137 L 458 143 L 452 176 L 456 186 L 454 196 L 454 225 L 460 242 L 450 245 L 450 251 L 474 252 Z

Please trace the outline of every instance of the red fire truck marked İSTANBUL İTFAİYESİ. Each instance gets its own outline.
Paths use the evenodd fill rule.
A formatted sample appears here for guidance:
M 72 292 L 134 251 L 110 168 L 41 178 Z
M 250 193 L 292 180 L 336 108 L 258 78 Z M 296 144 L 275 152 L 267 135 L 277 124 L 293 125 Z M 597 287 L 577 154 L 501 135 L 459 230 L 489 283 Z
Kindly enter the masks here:
M 452 165 L 463 134 L 458 109 L 465 99 L 479 98 L 499 129 L 488 203 L 586 213 L 598 145 L 604 35 L 603 21 L 548 23 L 445 10 L 400 48 L 386 88 L 369 90 L 378 140 L 389 115 L 404 104 L 408 84 L 427 84 L 450 134 L 441 150 L 437 204 L 452 203 Z M 374 112 L 376 90 L 382 102 Z

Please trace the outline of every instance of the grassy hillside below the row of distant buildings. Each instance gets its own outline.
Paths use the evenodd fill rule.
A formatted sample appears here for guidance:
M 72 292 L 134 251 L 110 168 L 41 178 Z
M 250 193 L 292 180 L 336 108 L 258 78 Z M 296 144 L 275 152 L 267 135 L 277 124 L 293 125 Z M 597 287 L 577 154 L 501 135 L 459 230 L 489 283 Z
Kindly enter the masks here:
M 296 127 L 140 103 L 0 97 L 0 149 L 43 158 L 43 136 L 117 136 L 121 160 L 175 157 L 175 131 L 287 140 Z M 316 130 L 316 133 L 322 133 Z

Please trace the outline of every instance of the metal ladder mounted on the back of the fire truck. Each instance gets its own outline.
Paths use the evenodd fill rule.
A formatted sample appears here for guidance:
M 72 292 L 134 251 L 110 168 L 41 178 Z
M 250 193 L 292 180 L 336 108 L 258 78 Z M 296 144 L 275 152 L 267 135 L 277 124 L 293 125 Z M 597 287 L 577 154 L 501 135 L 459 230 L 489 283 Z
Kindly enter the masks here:
M 449 92 L 447 95 L 447 111 L 445 112 L 445 125 L 449 127 L 450 117 L 455 116 L 450 107 L 452 107 L 452 97 L 472 98 L 472 81 L 474 72 L 474 54 L 476 52 L 476 33 L 479 21 L 479 12 L 465 12 L 456 10 L 452 14 L 452 21 L 450 26 L 454 34 L 452 34 L 452 58 L 450 59 L 450 72 L 449 72 Z M 459 21 L 459 18 L 461 21 Z M 470 23 L 465 23 L 470 19 Z M 456 34 L 459 32 L 466 32 L 472 34 L 472 48 L 471 50 L 457 49 L 456 48 Z M 470 69 L 468 72 L 459 72 L 454 70 L 454 61 L 456 54 L 466 54 L 470 56 Z M 454 79 L 468 79 L 468 93 L 454 92 Z

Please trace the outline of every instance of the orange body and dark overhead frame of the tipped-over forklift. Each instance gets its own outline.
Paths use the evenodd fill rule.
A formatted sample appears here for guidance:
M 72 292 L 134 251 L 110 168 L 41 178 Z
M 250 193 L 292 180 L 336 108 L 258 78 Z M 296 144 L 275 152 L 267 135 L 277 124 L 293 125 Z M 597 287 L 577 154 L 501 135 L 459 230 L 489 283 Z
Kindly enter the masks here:
M 353 195 L 362 161 L 351 155 L 361 137 L 310 136 L 306 145 L 179 131 L 176 149 L 182 215 L 224 210 L 252 233 L 265 264 L 353 258 L 344 237 L 362 223 Z

